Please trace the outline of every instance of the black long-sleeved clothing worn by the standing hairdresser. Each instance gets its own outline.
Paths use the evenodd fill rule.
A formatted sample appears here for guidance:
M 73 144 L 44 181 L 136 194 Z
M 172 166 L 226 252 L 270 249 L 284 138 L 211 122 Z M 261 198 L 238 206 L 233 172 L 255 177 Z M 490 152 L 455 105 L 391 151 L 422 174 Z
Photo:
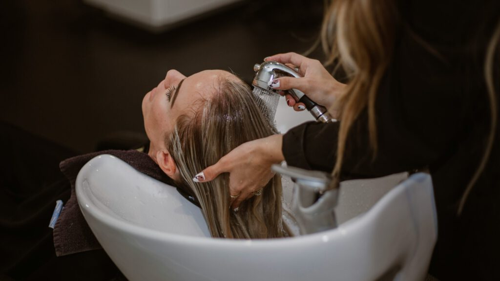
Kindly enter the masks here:
M 342 176 L 376 177 L 428 167 L 438 215 L 438 240 L 429 272 L 443 280 L 500 280 L 496 268 L 500 261 L 500 124 L 488 163 L 457 216 L 458 202 L 479 164 L 489 132 L 483 61 L 500 18 L 500 1 L 401 1 L 399 10 L 408 28 L 400 28 L 377 92 L 378 152 L 373 159 L 363 111 L 346 141 Z M 493 68 L 500 108 L 498 56 L 497 52 Z M 339 125 L 308 122 L 289 130 L 282 143 L 287 163 L 331 171 Z

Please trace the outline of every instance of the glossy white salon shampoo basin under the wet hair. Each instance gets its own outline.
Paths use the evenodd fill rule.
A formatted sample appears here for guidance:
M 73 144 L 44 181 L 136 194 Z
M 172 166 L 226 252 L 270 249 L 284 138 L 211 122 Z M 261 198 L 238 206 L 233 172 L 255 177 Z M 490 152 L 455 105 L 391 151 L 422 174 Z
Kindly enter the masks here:
M 130 280 L 423 280 L 437 234 L 430 177 L 394 181 L 344 183 L 337 214 L 345 222 L 335 229 L 262 240 L 208 237 L 200 210 L 175 188 L 110 155 L 80 170 L 76 195 Z M 370 193 L 370 184 L 397 186 Z

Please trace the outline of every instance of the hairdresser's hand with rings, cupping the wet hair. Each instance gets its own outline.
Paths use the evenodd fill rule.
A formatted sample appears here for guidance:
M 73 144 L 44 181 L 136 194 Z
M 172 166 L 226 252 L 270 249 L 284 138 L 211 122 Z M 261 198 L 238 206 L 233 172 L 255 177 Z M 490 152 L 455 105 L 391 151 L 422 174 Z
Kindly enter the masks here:
M 204 182 L 229 172 L 231 206 L 251 197 L 272 178 L 271 165 L 284 160 L 281 152 L 283 136 L 280 134 L 245 142 L 224 155 L 220 160 L 196 174 L 194 181 Z

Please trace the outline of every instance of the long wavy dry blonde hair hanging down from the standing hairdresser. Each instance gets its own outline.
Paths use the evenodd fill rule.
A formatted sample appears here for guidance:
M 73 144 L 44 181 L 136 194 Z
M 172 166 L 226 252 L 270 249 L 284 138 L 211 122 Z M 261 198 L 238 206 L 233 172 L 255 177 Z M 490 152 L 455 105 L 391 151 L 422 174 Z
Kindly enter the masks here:
M 349 82 L 340 102 L 340 128 L 333 177 L 338 184 L 345 142 L 349 129 L 365 108 L 368 113 L 368 134 L 373 158 L 377 152 L 375 99 L 380 81 L 391 61 L 399 15 L 394 0 L 334 0 L 325 13 L 321 42 L 327 55 L 326 64 L 339 63 L 348 74 Z M 411 32 L 411 30 L 406 29 Z M 440 56 L 416 34 L 411 34 L 424 48 Z M 490 127 L 486 147 L 478 167 L 467 183 L 459 202 L 463 209 L 467 196 L 482 173 L 494 141 L 497 122 L 497 101 L 493 88 L 493 60 L 500 38 L 500 21 L 488 43 L 484 58 L 484 78 L 490 109 Z

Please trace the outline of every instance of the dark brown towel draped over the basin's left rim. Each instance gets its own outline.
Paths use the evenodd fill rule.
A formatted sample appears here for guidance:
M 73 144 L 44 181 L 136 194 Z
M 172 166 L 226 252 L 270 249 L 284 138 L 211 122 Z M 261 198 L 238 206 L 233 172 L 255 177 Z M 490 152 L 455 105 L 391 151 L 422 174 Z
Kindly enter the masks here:
M 71 182 L 71 197 L 64 205 L 53 230 L 55 254 L 57 256 L 101 248 L 83 218 L 74 190 L 76 175 L 81 167 L 93 157 L 101 154 L 114 155 L 136 170 L 173 185 L 172 179 L 146 153 L 137 150 L 104 150 L 75 156 L 60 162 L 60 170 Z

